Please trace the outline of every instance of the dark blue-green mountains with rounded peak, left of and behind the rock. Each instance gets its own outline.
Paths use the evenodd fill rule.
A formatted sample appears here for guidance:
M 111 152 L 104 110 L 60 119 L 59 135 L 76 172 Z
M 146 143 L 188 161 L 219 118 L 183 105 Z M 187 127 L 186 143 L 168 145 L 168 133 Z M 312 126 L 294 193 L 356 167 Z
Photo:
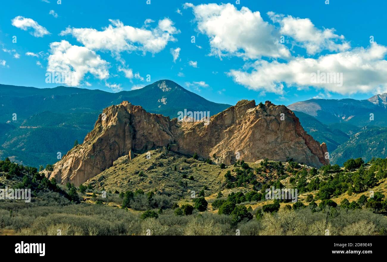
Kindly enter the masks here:
M 0 158 L 31 166 L 53 164 L 58 152 L 64 155 L 75 140 L 83 141 L 103 108 L 125 100 L 171 118 L 184 109 L 214 115 L 230 106 L 208 101 L 170 80 L 117 93 L 0 85 Z

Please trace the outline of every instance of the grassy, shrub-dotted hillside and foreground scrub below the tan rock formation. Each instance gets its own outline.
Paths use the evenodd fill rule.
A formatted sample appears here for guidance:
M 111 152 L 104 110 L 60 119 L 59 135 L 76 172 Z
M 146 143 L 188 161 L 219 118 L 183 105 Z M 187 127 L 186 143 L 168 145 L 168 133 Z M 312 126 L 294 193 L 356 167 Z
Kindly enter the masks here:
M 0 202 L 0 235 L 386 235 L 387 160 L 362 163 L 316 170 L 264 159 L 220 168 L 156 149 L 150 159 L 118 159 L 75 188 L 1 161 L 0 187 L 25 181 L 36 192 L 29 204 Z M 272 186 L 297 188 L 298 202 L 267 199 Z

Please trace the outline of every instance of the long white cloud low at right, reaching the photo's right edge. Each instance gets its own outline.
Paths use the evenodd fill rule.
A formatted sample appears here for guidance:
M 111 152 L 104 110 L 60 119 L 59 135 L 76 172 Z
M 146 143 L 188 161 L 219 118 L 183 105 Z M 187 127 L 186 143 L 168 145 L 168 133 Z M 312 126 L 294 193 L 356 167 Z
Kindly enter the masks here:
M 230 70 L 228 75 L 236 83 L 249 89 L 284 94 L 284 83 L 298 89 L 309 86 L 325 89 L 326 92 L 354 94 L 357 92 L 387 92 L 387 47 L 373 43 L 368 48 L 355 48 L 336 54 L 327 54 L 317 59 L 297 57 L 288 63 L 264 60 L 253 63 L 252 71 Z M 336 82 L 313 82 L 312 74 L 342 73 Z M 337 75 L 340 77 L 340 75 Z

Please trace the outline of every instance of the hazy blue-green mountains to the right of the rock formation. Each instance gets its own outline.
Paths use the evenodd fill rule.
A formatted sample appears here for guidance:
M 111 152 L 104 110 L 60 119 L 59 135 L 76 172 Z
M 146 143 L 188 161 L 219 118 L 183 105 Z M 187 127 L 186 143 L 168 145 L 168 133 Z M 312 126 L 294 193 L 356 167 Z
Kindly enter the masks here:
M 315 139 L 327 143 L 331 163 L 385 158 L 387 93 L 369 99 L 310 99 L 288 106 Z

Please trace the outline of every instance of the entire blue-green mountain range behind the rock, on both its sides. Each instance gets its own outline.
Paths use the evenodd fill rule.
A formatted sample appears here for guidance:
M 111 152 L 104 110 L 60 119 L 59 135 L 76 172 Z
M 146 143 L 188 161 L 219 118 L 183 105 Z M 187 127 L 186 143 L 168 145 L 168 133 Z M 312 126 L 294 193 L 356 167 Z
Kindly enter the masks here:
M 151 94 L 151 95 L 150 95 Z M 209 111 L 231 105 L 208 101 L 170 80 L 133 91 L 110 93 L 58 86 L 0 85 L 0 158 L 31 166 L 53 164 L 93 129 L 104 108 L 129 101 L 149 113 L 170 118 L 179 111 Z M 304 130 L 325 142 L 330 163 L 348 158 L 385 158 L 387 94 L 365 100 L 310 99 L 290 104 Z

